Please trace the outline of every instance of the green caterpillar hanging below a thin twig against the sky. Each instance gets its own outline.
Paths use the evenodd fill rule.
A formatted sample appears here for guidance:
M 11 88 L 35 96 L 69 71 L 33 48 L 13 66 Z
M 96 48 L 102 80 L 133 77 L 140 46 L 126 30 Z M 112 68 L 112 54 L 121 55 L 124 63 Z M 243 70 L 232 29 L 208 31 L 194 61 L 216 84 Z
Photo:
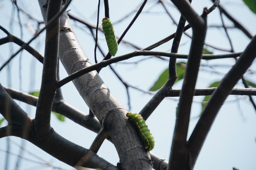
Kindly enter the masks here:
M 116 42 L 116 36 L 114 33 L 113 25 L 112 25 L 111 21 L 109 20 L 109 18 L 105 17 L 102 19 L 102 29 L 103 29 L 104 35 L 106 37 L 107 47 L 109 48 L 109 53 L 112 56 L 115 56 L 116 52 L 118 50 L 118 44 Z

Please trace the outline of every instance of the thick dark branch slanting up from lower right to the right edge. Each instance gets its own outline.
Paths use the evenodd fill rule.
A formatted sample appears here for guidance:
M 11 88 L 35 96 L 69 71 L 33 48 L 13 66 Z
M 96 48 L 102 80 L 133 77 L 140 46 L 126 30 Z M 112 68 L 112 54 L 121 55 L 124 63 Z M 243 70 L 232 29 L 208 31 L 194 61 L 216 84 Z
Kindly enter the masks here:
M 197 125 L 192 132 L 189 142 L 188 149 L 191 155 L 191 165 L 194 167 L 195 161 L 199 152 L 202 148 L 204 140 L 213 124 L 213 121 L 220 110 L 223 102 L 227 99 L 232 88 L 251 66 L 256 57 L 256 37 L 254 36 L 252 41 L 249 43 L 244 53 L 237 60 L 235 65 L 230 69 L 227 75 L 223 78 L 218 88 L 214 91 L 211 99 L 206 105 L 202 116 L 200 117 Z

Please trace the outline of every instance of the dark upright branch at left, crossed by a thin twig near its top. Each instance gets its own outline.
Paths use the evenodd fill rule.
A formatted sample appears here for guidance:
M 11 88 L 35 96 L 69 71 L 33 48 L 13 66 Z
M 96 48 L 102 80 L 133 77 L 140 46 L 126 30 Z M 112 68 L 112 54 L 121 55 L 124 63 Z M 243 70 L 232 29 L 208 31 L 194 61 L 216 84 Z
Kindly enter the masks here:
M 61 10 L 62 0 L 49 0 L 47 23 Z M 45 58 L 38 102 L 36 106 L 35 129 L 42 136 L 50 133 L 50 114 L 57 85 L 57 62 L 59 51 L 60 19 L 55 18 L 46 28 Z

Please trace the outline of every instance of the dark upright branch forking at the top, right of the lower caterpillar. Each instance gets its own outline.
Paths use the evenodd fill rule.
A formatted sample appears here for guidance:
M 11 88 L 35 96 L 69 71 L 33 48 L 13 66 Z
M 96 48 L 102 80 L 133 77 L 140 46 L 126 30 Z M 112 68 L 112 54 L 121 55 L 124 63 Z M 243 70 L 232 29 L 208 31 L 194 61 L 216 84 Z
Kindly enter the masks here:
M 187 132 L 189 127 L 190 109 L 194 95 L 195 83 L 199 71 L 204 39 L 206 36 L 207 10 L 201 16 L 192 9 L 185 0 L 172 0 L 193 29 L 189 59 L 185 70 L 180 101 L 176 112 L 176 123 L 171 145 L 168 169 L 184 170 L 187 165 Z

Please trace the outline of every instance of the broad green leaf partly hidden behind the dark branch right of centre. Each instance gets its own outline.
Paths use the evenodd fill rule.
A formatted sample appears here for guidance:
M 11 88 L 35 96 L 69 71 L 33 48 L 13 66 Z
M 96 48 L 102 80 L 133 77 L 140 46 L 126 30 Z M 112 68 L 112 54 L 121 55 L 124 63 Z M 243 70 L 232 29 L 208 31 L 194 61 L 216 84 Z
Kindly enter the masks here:
M 186 68 L 186 63 L 183 63 L 183 62 L 176 63 L 176 72 L 177 72 L 177 75 L 178 75 L 178 78 L 177 78 L 176 82 L 178 82 L 179 80 L 182 80 L 184 78 L 185 68 Z M 169 69 L 167 68 L 159 76 L 158 80 L 149 89 L 149 91 L 159 90 L 161 87 L 163 87 L 164 83 L 167 82 L 168 78 L 169 78 Z

